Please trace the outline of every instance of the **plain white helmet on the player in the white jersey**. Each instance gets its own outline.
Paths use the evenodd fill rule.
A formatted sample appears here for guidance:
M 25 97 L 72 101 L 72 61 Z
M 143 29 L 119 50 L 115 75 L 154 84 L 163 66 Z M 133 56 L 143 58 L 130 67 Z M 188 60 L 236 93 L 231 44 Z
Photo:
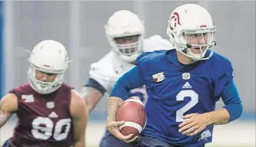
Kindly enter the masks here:
M 111 45 L 121 59 L 132 62 L 141 55 L 145 35 L 144 22 L 135 13 L 128 10 L 116 11 L 105 24 L 105 34 Z M 115 38 L 138 35 L 138 41 L 128 44 L 118 44 Z

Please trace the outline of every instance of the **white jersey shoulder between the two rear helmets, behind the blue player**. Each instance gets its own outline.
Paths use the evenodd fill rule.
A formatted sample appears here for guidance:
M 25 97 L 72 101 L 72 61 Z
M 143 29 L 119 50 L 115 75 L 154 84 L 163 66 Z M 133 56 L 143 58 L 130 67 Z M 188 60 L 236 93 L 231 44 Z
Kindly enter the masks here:
M 170 50 L 173 49 L 171 42 L 160 35 L 153 35 L 144 40 L 144 51 L 158 51 L 158 50 Z

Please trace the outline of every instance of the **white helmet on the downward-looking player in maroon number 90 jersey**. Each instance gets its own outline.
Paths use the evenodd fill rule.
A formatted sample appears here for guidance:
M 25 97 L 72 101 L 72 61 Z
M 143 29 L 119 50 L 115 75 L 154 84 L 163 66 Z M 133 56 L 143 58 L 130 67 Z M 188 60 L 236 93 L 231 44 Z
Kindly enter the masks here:
M 65 70 L 68 69 L 68 53 L 58 41 L 45 40 L 35 45 L 28 58 L 28 82 L 40 94 L 52 93 L 62 86 Z M 45 73 L 57 73 L 53 82 L 44 82 L 35 78 L 35 70 Z

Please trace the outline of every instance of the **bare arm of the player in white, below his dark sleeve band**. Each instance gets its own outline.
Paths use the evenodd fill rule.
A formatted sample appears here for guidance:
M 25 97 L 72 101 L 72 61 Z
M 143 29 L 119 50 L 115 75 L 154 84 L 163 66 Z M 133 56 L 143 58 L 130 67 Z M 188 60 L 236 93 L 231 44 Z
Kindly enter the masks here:
M 95 108 L 103 95 L 93 87 L 83 87 L 81 90 L 81 96 L 85 99 L 88 112 L 91 113 L 92 109 Z

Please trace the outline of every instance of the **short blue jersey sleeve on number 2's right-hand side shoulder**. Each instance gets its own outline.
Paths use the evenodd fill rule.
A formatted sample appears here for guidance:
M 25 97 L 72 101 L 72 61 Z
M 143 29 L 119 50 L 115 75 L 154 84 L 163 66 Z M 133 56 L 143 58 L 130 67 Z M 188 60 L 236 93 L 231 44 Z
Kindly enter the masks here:
M 217 77 L 214 81 L 214 95 L 220 96 L 221 92 L 224 90 L 228 84 L 230 84 L 234 78 L 234 70 L 231 65 L 231 62 L 228 59 L 224 59 L 221 63 L 218 63 L 220 66 L 217 71 Z

